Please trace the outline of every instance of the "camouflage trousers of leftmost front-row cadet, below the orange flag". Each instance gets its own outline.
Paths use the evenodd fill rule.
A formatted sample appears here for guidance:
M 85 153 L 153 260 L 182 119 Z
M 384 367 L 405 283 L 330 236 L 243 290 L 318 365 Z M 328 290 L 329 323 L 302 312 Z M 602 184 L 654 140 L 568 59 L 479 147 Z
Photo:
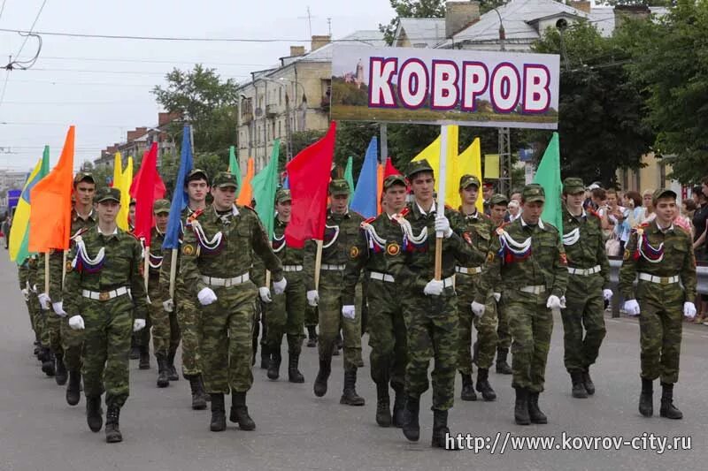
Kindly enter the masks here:
M 123 295 L 104 302 L 83 298 L 82 302 L 86 325 L 81 351 L 84 394 L 96 398 L 105 391 L 107 406 L 122 407 L 130 391 L 133 301 Z

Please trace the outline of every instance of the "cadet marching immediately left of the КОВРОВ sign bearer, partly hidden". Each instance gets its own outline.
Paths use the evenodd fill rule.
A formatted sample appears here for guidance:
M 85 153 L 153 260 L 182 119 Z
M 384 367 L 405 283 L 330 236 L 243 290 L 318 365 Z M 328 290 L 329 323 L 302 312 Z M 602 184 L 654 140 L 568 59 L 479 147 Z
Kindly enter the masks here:
M 405 208 L 405 179 L 390 175 L 383 182 L 385 212 L 361 224 L 359 236 L 350 247 L 350 260 L 344 270 L 342 305 L 348 310 L 356 304 L 356 286 L 361 273 L 370 279 L 369 346 L 371 377 L 376 384 L 376 423 L 381 427 L 403 425 L 405 404 L 405 365 L 408 361 L 402 310 L 403 290 L 396 276 L 403 270 L 404 232 L 396 222 L 396 214 Z M 396 391 L 393 417 L 390 411 L 389 383 Z

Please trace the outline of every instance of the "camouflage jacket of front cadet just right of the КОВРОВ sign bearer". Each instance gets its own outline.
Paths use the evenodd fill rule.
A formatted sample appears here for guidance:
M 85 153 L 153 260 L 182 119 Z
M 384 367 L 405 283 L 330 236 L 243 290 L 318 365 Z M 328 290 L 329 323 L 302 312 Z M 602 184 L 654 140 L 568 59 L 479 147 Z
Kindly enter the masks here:
M 503 237 L 511 239 L 504 243 L 504 247 Z M 499 285 L 493 286 L 495 280 L 500 280 Z M 499 292 L 501 287 L 504 291 L 513 291 L 538 285 L 546 286 L 547 292 L 560 298 L 566 293 L 567 283 L 566 251 L 558 229 L 543 221 L 529 225 L 519 217 L 496 230 L 475 301 L 484 304 L 492 289 Z

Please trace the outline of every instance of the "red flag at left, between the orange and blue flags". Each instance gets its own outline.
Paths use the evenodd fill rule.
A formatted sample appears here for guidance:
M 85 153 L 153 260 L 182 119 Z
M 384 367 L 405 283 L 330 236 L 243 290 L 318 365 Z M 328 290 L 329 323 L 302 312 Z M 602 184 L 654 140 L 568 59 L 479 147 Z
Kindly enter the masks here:
M 158 191 L 158 144 L 152 144 L 150 152 L 142 158 L 140 171 L 133 180 L 131 190 L 135 188 L 135 230 L 133 233 L 137 238 L 145 239 L 145 246 L 150 246 L 150 234 L 152 232 L 152 206 L 157 197 Z M 164 185 L 163 185 L 164 186 Z M 163 194 L 164 195 L 164 194 Z

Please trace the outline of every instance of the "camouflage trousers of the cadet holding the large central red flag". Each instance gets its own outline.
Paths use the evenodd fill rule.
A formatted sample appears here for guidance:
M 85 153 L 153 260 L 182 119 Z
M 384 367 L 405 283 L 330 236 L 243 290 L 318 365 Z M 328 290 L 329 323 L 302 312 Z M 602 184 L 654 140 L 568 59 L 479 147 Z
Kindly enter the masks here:
M 322 271 L 318 291 L 319 359 L 331 358 L 335 339 L 342 330 L 344 370 L 358 368 L 361 361 L 361 313 L 357 313 L 354 319 L 342 315 L 342 272 Z

